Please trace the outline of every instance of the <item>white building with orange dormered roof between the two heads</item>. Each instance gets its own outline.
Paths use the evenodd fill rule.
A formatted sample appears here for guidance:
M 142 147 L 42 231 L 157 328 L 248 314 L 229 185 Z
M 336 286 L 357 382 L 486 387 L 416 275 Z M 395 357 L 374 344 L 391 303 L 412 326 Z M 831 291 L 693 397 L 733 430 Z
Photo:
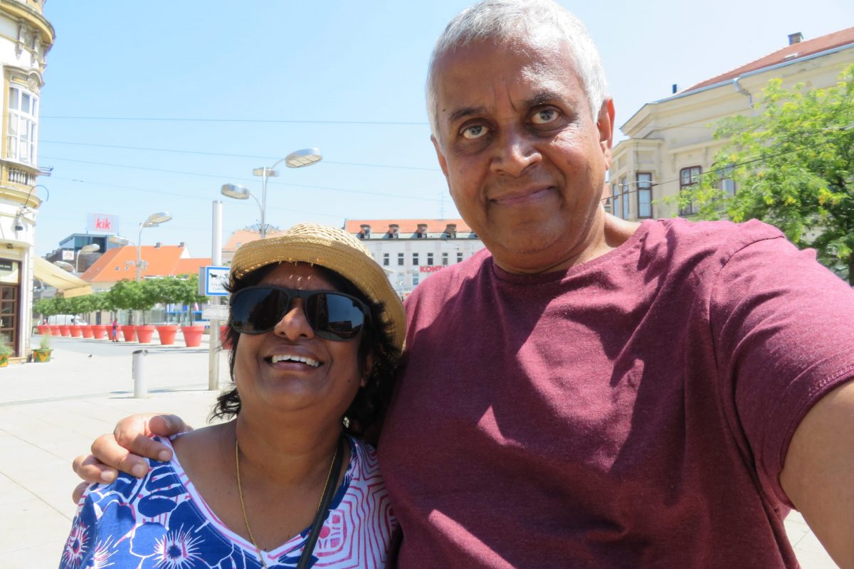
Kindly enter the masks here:
M 401 298 L 483 248 L 462 219 L 350 219 L 344 230 L 365 243 Z

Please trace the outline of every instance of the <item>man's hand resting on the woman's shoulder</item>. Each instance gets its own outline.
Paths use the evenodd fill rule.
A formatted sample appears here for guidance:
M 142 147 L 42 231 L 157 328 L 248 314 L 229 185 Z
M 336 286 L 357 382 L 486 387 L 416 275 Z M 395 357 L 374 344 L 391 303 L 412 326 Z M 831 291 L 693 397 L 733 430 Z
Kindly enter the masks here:
M 184 424 L 178 415 L 131 415 L 116 423 L 112 434 L 104 434 L 92 443 L 91 455 L 74 459 L 73 469 L 85 482 L 73 491 L 74 502 L 79 502 L 86 487 L 93 482 L 112 482 L 117 469 L 142 478 L 149 471 L 145 457 L 166 462 L 172 450 L 151 439 L 154 435 L 168 437 L 184 433 L 192 427 Z

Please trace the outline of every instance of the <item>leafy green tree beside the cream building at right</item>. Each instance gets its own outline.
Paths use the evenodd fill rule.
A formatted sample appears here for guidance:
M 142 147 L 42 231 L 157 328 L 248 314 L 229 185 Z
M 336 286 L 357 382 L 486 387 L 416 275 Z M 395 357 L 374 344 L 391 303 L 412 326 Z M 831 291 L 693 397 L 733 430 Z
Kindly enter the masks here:
M 854 285 L 854 66 L 828 89 L 772 79 L 760 99 L 755 116 L 718 123 L 715 138 L 728 142 L 680 205 L 693 201 L 704 219 L 773 224 Z

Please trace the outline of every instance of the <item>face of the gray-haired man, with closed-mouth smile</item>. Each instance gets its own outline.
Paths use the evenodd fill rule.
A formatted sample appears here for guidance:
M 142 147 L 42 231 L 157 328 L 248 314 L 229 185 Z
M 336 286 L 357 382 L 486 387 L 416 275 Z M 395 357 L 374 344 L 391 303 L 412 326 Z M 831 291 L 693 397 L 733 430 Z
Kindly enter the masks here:
M 499 266 L 535 273 L 592 256 L 604 240 L 613 106 L 591 116 L 566 45 L 471 44 L 435 73 L 436 153 Z

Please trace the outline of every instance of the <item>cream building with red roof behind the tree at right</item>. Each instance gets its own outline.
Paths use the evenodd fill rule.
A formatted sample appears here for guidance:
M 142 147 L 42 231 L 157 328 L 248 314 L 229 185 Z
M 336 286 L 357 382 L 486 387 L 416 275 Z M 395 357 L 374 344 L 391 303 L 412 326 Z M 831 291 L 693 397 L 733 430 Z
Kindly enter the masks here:
M 719 120 L 757 114 L 757 96 L 772 78 L 787 89 L 820 89 L 836 84 L 852 63 L 854 27 L 810 40 L 794 33 L 772 54 L 647 103 L 620 128 L 629 139 L 614 147 L 606 208 L 631 220 L 692 216 L 693 205 L 680 208 L 667 198 L 710 171 L 725 142 L 712 137 Z M 726 171 L 714 175 L 722 189 L 738 191 Z

